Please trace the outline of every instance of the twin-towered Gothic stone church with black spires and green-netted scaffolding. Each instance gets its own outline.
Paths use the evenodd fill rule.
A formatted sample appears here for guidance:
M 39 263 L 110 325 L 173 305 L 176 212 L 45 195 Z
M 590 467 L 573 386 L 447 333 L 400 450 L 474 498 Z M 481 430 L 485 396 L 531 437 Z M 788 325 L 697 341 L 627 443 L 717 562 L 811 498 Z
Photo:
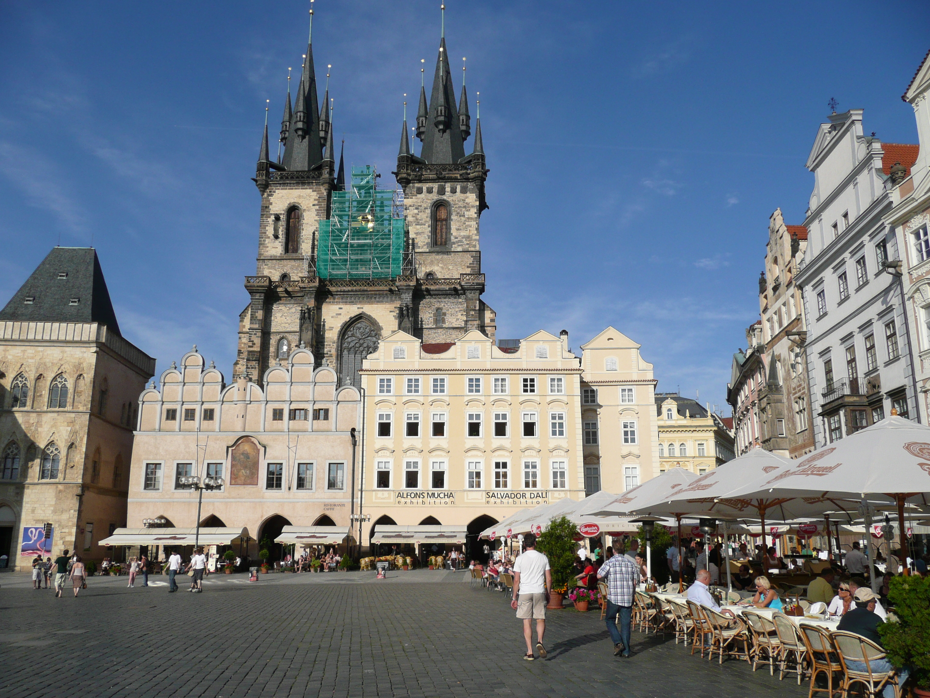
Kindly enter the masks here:
M 246 276 L 251 300 L 240 315 L 236 377 L 260 384 L 302 344 L 318 365 L 337 369 L 340 384 L 359 386 L 362 360 L 395 329 L 424 342 L 453 342 L 470 329 L 494 339 L 495 314 L 481 300 L 481 124 L 466 155 L 468 99 L 463 84 L 457 109 L 445 54 L 443 36 L 429 106 L 420 89 L 419 156 L 404 122 L 394 173 L 400 195 L 377 190 L 380 175 L 370 167 L 352 168 L 347 186 L 341 155 L 337 170 L 311 34 L 293 107 L 289 91 L 285 101 L 280 162 L 270 158 L 267 126 L 261 141 L 259 254 L 256 275 Z

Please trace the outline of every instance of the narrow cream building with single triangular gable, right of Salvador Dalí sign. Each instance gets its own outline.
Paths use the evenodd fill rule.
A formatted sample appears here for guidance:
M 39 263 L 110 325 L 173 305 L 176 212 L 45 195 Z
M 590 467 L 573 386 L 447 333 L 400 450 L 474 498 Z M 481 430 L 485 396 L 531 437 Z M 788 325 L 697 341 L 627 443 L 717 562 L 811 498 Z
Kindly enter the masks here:
M 630 490 L 658 475 L 652 364 L 612 327 L 581 350 L 585 491 Z

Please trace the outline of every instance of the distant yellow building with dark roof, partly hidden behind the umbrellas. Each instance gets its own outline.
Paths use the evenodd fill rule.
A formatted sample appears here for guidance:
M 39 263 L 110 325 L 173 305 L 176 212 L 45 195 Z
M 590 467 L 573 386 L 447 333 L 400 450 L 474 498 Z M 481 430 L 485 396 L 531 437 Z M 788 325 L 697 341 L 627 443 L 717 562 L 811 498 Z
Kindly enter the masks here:
M 677 393 L 656 395 L 659 470 L 684 468 L 704 475 L 736 458 L 733 435 L 723 420 L 697 400 Z

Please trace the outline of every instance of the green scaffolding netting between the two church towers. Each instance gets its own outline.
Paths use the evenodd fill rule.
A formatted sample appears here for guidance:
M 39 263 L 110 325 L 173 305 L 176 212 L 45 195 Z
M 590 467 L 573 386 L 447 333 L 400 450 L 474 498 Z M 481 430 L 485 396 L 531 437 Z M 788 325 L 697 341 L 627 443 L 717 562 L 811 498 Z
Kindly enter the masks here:
M 332 213 L 320 221 L 316 271 L 320 278 L 401 275 L 404 218 L 392 190 L 375 186 L 375 168 L 352 168 L 352 186 L 333 192 Z

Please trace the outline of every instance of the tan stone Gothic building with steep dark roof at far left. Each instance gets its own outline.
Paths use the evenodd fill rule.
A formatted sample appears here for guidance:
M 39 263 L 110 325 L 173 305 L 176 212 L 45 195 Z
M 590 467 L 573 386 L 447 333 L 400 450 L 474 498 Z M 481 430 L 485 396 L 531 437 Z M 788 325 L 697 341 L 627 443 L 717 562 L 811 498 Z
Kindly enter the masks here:
M 36 546 L 102 559 L 100 540 L 126 525 L 132 424 L 154 368 L 120 335 L 93 248 L 53 248 L 0 311 L 0 557 L 9 567 L 30 568 Z

